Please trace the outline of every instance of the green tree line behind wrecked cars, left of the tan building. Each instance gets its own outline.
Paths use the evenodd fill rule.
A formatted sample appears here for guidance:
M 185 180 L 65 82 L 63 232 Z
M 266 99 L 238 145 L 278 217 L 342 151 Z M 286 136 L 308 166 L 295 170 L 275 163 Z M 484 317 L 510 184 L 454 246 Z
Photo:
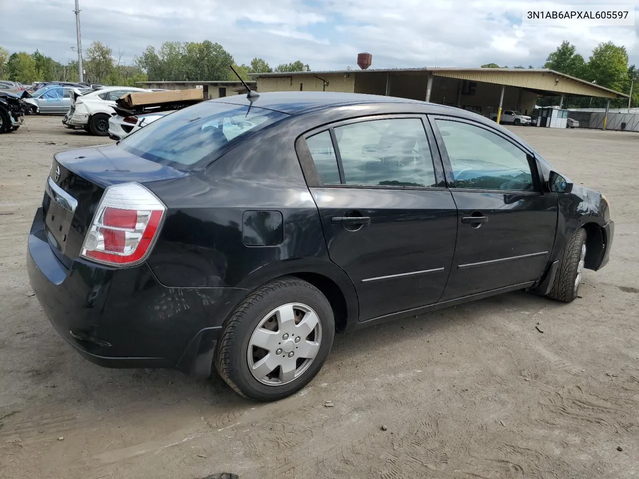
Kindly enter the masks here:
M 311 68 L 301 60 L 281 63 L 271 68 L 268 63 L 255 57 L 249 65 L 237 65 L 233 56 L 219 43 L 204 42 L 164 42 L 159 49 L 146 47 L 139 57 L 134 57 L 130 65 L 122 63 L 122 52 L 114 52 L 109 45 L 93 42 L 82 54 L 82 67 L 86 74 L 84 81 L 94 84 L 134 86 L 142 81 L 196 81 L 196 80 L 236 80 L 229 68 L 234 65 L 242 79 L 249 79 L 249 73 L 302 72 Z M 35 81 L 79 81 L 77 61 L 66 65 L 44 56 L 38 50 L 13 52 L 11 55 L 0 47 L 0 79 L 13 80 L 24 84 Z

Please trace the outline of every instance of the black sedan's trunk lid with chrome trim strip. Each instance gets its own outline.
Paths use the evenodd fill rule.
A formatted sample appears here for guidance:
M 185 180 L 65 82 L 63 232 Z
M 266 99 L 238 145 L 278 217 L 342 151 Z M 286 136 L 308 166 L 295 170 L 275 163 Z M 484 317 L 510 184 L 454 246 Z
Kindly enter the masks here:
M 45 232 L 58 259 L 70 268 L 79 256 L 107 186 L 180 178 L 188 173 L 127 153 L 117 145 L 54 155 L 42 201 Z

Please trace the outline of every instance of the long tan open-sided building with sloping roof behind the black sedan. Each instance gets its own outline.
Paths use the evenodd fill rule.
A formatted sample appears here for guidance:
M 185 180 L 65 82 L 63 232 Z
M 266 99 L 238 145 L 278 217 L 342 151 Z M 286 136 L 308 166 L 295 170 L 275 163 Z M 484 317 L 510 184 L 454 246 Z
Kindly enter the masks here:
M 544 68 L 394 68 L 253 75 L 258 91 L 343 91 L 426 100 L 483 116 L 532 114 L 539 96 L 627 98 L 624 93 Z

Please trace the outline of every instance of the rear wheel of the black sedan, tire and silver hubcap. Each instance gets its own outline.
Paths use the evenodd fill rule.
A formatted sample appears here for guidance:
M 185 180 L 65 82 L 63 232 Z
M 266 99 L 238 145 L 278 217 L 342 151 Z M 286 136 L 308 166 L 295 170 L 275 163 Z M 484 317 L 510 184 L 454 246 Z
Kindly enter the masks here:
M 334 334 L 333 310 L 319 289 L 293 277 L 273 280 L 224 323 L 215 368 L 244 397 L 282 399 L 316 376 Z

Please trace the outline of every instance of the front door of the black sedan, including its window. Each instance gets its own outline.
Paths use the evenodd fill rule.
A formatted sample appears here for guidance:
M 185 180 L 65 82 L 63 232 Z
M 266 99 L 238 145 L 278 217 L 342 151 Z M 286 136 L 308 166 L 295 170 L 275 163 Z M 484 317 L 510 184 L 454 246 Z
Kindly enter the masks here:
M 443 117 L 431 123 L 459 216 L 442 300 L 539 279 L 555 241 L 557 196 L 541 192 L 534 157 L 488 126 Z

